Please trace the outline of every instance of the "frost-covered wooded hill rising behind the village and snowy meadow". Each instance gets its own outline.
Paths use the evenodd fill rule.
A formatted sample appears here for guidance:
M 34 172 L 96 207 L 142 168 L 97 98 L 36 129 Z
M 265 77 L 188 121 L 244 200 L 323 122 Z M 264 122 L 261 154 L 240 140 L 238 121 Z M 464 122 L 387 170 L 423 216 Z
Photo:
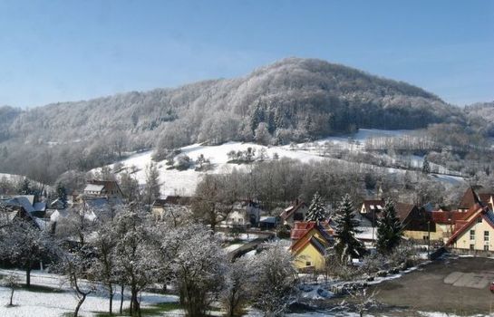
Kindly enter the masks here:
M 315 59 L 246 77 L 132 91 L 32 110 L 0 108 L 0 171 L 51 182 L 126 151 L 228 140 L 286 144 L 359 128 L 418 129 L 466 114 L 430 92 Z

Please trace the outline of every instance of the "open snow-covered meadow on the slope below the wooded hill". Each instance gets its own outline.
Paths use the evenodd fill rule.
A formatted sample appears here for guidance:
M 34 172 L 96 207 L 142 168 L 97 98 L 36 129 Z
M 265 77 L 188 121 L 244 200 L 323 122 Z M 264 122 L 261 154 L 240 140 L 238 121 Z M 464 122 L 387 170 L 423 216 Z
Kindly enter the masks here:
M 330 137 L 320 139 L 309 143 L 299 143 L 285 146 L 272 146 L 266 147 L 254 143 L 242 143 L 242 142 L 228 142 L 218 146 L 204 146 L 200 144 L 192 144 L 182 148 L 182 153 L 187 154 L 193 161 L 198 159 L 199 155 L 203 155 L 206 159 L 209 159 L 213 165 L 213 169 L 208 173 L 227 173 L 232 168 L 245 169 L 247 165 L 237 165 L 228 163 L 228 152 L 231 150 L 239 151 L 252 148 L 256 150 L 257 156 L 261 149 L 265 151 L 268 158 L 273 158 L 275 153 L 279 158 L 298 159 L 302 162 L 309 162 L 311 160 L 323 160 L 321 155 L 324 151 L 324 146 L 327 144 L 337 145 L 340 149 L 349 149 L 354 151 L 363 151 L 363 144 L 366 139 L 371 137 L 399 137 L 406 134 L 412 134 L 412 130 L 368 130 L 361 129 L 351 137 Z M 127 159 L 121 160 L 121 163 L 125 168 L 135 167 L 137 170 L 133 176 L 139 181 L 140 184 L 145 183 L 146 179 L 146 167 L 151 162 L 152 151 L 141 152 L 131 155 Z M 412 166 L 420 167 L 423 158 L 412 156 L 410 158 Z M 110 165 L 113 168 L 113 165 Z M 192 195 L 196 185 L 199 182 L 203 172 L 197 172 L 193 168 L 179 171 L 177 169 L 167 169 L 165 161 L 158 163 L 158 169 L 160 172 L 161 193 L 164 195 Z M 440 167 L 441 168 L 441 167 Z M 95 171 L 94 169 L 93 171 Z M 390 173 L 402 172 L 400 169 L 388 168 Z M 463 181 L 462 178 L 438 176 L 447 184 L 458 184 Z

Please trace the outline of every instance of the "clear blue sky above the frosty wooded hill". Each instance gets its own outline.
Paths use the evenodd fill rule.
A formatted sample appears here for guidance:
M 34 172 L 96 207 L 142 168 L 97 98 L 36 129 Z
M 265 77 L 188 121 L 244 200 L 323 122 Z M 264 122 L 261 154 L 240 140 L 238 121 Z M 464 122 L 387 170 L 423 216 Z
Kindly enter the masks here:
M 494 101 L 494 0 L 0 0 L 0 105 L 245 76 L 319 58 Z

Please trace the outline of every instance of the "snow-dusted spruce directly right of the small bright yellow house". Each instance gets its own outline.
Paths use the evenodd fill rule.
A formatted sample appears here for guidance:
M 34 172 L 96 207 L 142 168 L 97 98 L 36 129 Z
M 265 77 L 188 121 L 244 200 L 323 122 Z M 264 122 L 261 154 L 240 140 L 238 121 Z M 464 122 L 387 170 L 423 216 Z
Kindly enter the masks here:
M 360 233 L 357 229 L 359 221 L 355 219 L 354 204 L 350 195 L 346 194 L 334 215 L 334 235 L 336 243 L 334 250 L 342 264 L 347 264 L 353 258 L 362 257 L 365 248 L 355 235 Z

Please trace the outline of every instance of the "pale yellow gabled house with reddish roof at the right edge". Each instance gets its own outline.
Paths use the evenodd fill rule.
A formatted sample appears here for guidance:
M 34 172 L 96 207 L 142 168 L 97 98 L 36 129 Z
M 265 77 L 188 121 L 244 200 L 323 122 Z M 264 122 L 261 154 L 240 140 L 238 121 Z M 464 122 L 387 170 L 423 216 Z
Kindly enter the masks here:
M 447 246 L 460 251 L 494 251 L 494 213 L 488 206 L 477 205 L 476 211 L 456 221 L 455 232 Z

